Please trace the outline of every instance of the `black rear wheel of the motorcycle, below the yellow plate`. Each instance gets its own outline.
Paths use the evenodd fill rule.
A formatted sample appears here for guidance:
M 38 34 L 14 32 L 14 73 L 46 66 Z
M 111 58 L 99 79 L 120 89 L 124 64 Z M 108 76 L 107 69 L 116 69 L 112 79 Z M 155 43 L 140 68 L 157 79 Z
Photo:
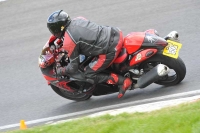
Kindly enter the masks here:
M 179 84 L 185 78 L 186 67 L 182 59 L 180 57 L 177 59 L 170 58 L 162 55 L 162 53 L 158 53 L 143 62 L 140 65 L 140 69 L 143 69 L 146 73 L 158 64 L 164 64 L 168 66 L 170 68 L 170 73 L 164 77 L 161 77 L 158 81 L 155 82 L 156 84 L 172 86 Z

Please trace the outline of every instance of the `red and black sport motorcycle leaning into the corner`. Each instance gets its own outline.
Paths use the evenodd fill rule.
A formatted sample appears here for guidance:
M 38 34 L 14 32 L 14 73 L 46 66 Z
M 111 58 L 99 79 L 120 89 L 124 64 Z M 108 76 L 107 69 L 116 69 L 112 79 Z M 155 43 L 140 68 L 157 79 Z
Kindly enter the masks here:
M 66 99 L 83 101 L 91 96 L 100 96 L 115 93 L 119 91 L 117 85 L 101 83 L 94 84 L 92 79 L 84 77 L 84 67 L 94 57 L 85 57 L 80 55 L 79 70 L 75 74 L 58 78 L 55 75 L 57 63 L 65 66 L 69 63 L 67 53 L 55 51 L 57 45 L 43 48 L 39 57 L 39 66 L 48 85 L 61 97 Z M 116 73 L 132 79 L 133 84 L 130 90 L 136 88 L 145 88 L 155 83 L 164 86 L 173 86 L 179 84 L 186 75 L 186 67 L 179 57 L 179 51 L 182 44 L 179 41 L 178 32 L 172 31 L 166 37 L 162 38 L 154 29 L 145 32 L 131 32 L 124 37 L 123 48 L 104 73 Z M 65 55 L 59 61 L 56 58 Z M 43 67 L 46 64 L 48 67 Z

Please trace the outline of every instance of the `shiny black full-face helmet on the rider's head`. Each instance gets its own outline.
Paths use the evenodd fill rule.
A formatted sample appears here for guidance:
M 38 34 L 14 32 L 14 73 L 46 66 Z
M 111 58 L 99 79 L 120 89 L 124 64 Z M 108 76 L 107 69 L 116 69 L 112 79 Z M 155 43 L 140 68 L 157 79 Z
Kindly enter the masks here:
M 49 31 L 56 36 L 61 38 L 64 29 L 70 24 L 71 19 L 69 15 L 63 10 L 53 12 L 47 19 L 47 27 Z

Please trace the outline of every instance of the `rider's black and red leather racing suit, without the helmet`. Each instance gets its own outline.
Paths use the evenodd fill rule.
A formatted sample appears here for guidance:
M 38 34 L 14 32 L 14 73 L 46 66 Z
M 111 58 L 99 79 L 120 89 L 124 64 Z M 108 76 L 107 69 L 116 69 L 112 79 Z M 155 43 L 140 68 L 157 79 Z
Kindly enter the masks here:
M 122 84 L 123 77 L 119 78 L 113 73 L 100 73 L 112 64 L 122 44 L 123 35 L 118 28 L 101 26 L 85 18 L 73 19 L 66 28 L 62 47 L 68 52 L 70 59 L 66 73 L 71 74 L 78 70 L 80 54 L 95 56 L 96 58 L 85 68 L 86 77 L 92 78 L 95 83 Z

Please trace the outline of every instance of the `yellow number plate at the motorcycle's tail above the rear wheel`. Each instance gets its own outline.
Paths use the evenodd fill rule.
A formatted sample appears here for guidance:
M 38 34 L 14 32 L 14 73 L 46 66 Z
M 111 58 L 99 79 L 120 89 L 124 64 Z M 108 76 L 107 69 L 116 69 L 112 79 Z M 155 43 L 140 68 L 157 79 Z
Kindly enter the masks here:
M 167 40 L 168 45 L 163 50 L 163 55 L 172 57 L 172 58 L 178 58 L 179 50 L 182 47 L 182 44 L 179 42 L 175 42 L 172 40 Z

